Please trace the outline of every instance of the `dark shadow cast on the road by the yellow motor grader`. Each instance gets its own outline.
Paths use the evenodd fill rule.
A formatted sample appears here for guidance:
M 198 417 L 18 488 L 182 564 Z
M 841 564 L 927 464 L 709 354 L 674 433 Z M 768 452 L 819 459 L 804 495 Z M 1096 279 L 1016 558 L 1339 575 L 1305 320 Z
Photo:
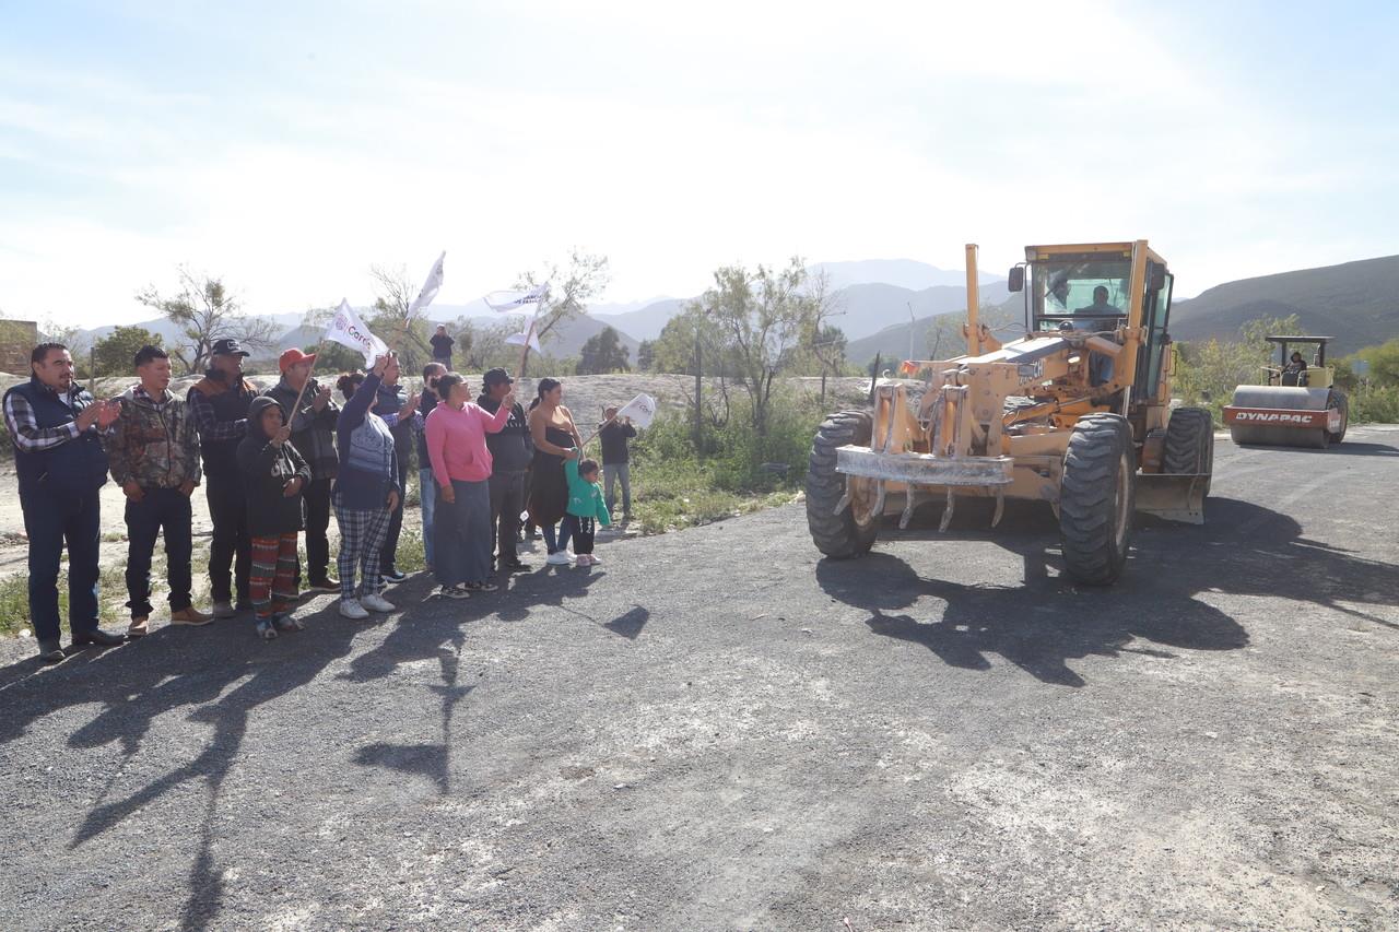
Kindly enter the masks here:
M 1247 647 L 1248 631 L 1200 598 L 1207 592 L 1293 599 L 1395 627 L 1365 610 L 1399 599 L 1392 567 L 1308 540 L 1281 512 L 1230 498 L 1210 498 L 1207 508 L 1203 526 L 1139 515 L 1128 568 L 1108 588 L 1079 586 L 1063 574 L 1052 512 L 1032 502 L 1007 502 L 996 529 L 988 504 L 960 502 L 947 533 L 936 530 L 937 505 L 915 512 L 908 530 L 881 530 L 881 540 L 929 547 L 992 542 L 1020 556 L 1018 585 L 930 578 L 879 543 L 858 560 L 820 561 L 817 581 L 828 596 L 867 610 L 873 634 L 919 644 L 972 670 L 1000 655 L 1045 683 L 1073 687 L 1086 684 L 1070 669 L 1073 659 L 1122 652 L 1170 659 L 1171 648 Z M 912 610 L 928 599 L 946 605 L 937 613 Z

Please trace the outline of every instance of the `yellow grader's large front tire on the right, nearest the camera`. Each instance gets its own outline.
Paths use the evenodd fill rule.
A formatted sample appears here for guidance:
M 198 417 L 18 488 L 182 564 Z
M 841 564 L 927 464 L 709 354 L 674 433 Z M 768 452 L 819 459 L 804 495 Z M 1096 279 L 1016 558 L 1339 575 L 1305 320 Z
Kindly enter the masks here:
M 1118 414 L 1079 418 L 1063 456 L 1059 543 L 1069 575 L 1105 586 L 1126 567 L 1136 509 L 1132 428 Z

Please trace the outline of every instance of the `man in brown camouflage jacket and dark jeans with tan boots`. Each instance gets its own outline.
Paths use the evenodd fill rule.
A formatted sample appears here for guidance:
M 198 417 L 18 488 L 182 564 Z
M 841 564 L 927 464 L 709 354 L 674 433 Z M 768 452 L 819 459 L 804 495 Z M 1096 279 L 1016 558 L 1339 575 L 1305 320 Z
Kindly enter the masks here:
M 190 589 L 194 550 L 193 508 L 189 497 L 199 486 L 199 435 L 189 406 L 169 389 L 171 358 L 157 346 L 136 353 L 141 379 L 120 397 L 122 417 L 106 439 L 112 479 L 126 493 L 126 593 L 133 638 L 147 633 L 151 617 L 151 556 L 165 532 L 165 579 L 169 584 L 171 623 L 208 624 L 213 619 L 193 606 Z

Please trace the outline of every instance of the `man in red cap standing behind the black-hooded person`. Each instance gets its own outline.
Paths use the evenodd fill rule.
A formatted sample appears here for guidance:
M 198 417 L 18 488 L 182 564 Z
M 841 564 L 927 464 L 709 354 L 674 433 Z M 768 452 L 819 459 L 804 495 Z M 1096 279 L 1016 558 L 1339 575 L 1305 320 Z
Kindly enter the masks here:
M 330 400 L 330 386 L 311 376 L 316 354 L 292 347 L 281 354 L 277 367 L 281 381 L 267 389 L 267 397 L 281 404 L 281 413 L 291 427 L 291 445 L 311 465 L 311 484 L 302 491 L 306 502 L 306 579 L 312 589 L 339 592 L 340 582 L 330 578 L 330 486 L 340 460 L 336 458 L 336 421 L 340 407 Z M 309 381 L 309 385 L 308 385 Z M 305 392 L 302 392 L 305 386 Z M 301 397 L 301 406 L 291 407 Z M 297 567 L 301 584 L 301 567 Z

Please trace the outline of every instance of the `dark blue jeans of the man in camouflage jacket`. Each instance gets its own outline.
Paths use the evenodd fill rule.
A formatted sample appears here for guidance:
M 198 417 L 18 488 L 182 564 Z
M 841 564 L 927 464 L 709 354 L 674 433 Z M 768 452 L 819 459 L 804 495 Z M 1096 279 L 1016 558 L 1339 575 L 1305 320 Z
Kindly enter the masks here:
M 155 540 L 165 530 L 165 579 L 171 586 L 171 612 L 189 607 L 193 571 L 190 554 L 192 505 L 189 495 L 178 488 L 147 488 L 141 501 L 126 500 L 126 607 L 133 619 L 151 616 L 151 554 Z

